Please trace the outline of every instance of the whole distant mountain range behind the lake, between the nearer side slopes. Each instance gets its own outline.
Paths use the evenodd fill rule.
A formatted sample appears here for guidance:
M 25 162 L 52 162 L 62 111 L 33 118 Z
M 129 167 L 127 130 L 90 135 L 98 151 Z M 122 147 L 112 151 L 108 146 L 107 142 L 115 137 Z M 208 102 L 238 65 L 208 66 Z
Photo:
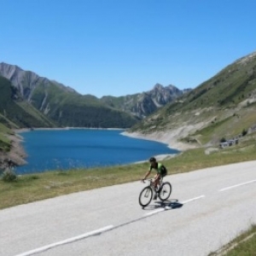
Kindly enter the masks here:
M 54 80 L 39 77 L 15 65 L 0 63 L 0 75 L 20 95 L 60 126 L 127 128 L 183 94 L 173 85 L 155 84 L 153 90 L 131 96 L 80 95 Z

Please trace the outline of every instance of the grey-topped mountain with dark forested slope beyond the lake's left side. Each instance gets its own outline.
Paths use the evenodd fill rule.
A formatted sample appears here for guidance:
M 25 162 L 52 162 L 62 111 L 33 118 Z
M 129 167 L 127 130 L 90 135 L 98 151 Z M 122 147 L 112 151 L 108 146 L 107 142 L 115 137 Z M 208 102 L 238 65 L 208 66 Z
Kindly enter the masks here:
M 9 79 L 26 102 L 58 126 L 126 128 L 137 123 L 131 114 L 110 108 L 96 96 L 82 96 L 70 87 L 20 67 L 2 62 L 0 75 Z

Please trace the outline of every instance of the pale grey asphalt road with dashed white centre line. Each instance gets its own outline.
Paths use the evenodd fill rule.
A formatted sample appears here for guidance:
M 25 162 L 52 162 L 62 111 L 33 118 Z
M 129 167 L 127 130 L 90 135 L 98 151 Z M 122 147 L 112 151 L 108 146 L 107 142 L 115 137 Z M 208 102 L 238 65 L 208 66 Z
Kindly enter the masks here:
M 206 256 L 256 224 L 256 161 L 165 179 L 170 209 L 138 181 L 1 210 L 0 255 Z

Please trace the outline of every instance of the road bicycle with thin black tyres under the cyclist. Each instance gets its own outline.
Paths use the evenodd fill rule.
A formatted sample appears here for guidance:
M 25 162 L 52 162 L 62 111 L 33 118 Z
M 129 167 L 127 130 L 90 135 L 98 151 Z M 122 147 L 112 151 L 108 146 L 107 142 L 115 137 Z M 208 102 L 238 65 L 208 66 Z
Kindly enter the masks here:
M 149 184 L 143 188 L 139 195 L 139 204 L 142 207 L 147 207 L 155 194 L 160 198 L 160 201 L 166 201 L 170 197 L 172 193 L 171 183 L 161 181 L 159 188 L 156 190 L 154 188 L 153 179 L 150 178 L 147 181 Z M 145 183 L 145 181 L 143 181 L 143 183 Z

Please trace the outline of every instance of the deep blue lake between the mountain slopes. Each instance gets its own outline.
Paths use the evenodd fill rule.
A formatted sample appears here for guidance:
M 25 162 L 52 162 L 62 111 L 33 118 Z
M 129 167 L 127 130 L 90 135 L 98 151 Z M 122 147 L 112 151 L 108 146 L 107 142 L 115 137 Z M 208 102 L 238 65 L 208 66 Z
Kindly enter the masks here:
M 35 130 L 21 132 L 28 157 L 19 174 L 79 167 L 116 166 L 177 154 L 164 143 L 123 136 L 121 130 Z

